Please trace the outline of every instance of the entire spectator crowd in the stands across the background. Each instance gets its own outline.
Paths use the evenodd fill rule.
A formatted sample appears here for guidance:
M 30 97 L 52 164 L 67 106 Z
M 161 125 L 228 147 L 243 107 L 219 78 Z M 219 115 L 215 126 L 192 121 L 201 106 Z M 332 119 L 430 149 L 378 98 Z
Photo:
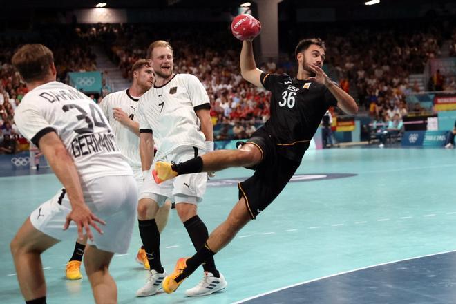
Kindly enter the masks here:
M 307 31 L 292 34 L 294 37 L 323 38 L 327 46 L 325 70 L 328 75 L 357 99 L 372 120 L 391 120 L 396 114 L 403 117 L 408 113 L 423 113 L 419 104 L 413 107 L 406 104 L 406 95 L 420 91 L 417 83 L 409 83 L 409 75 L 423 73 L 428 59 L 440 55 L 445 39 L 452 39 L 450 55 L 456 53 L 456 30 L 448 34 L 439 24 L 396 22 L 381 27 L 329 24 L 318 29 L 300 26 Z M 12 117 L 27 92 L 10 65 L 10 58 L 17 46 L 33 41 L 50 46 L 55 55 L 58 79 L 65 81 L 69 71 L 96 69 L 91 44 L 104 46 L 122 75 L 131 79 L 131 66 L 137 59 L 146 57 L 150 42 L 165 39 L 174 48 L 175 71 L 196 75 L 207 89 L 218 140 L 249 137 L 269 118 L 270 93 L 245 82 L 240 76 L 241 44 L 226 24 L 97 24 L 73 28 L 57 26 L 41 33 L 39 37 L 21 40 L 0 39 L 0 131 L 3 135 L 17 133 Z M 289 45 L 294 47 L 296 42 Z M 281 59 L 294 57 L 292 47 L 285 46 L 287 49 L 281 50 L 287 53 Z M 296 73 L 293 59 L 275 61 L 267 58 L 257 64 L 269 72 Z M 454 77 L 444 79 L 442 86 L 444 90 L 456 89 Z M 108 93 L 107 89 L 105 91 Z M 332 115 L 336 114 L 332 109 Z

